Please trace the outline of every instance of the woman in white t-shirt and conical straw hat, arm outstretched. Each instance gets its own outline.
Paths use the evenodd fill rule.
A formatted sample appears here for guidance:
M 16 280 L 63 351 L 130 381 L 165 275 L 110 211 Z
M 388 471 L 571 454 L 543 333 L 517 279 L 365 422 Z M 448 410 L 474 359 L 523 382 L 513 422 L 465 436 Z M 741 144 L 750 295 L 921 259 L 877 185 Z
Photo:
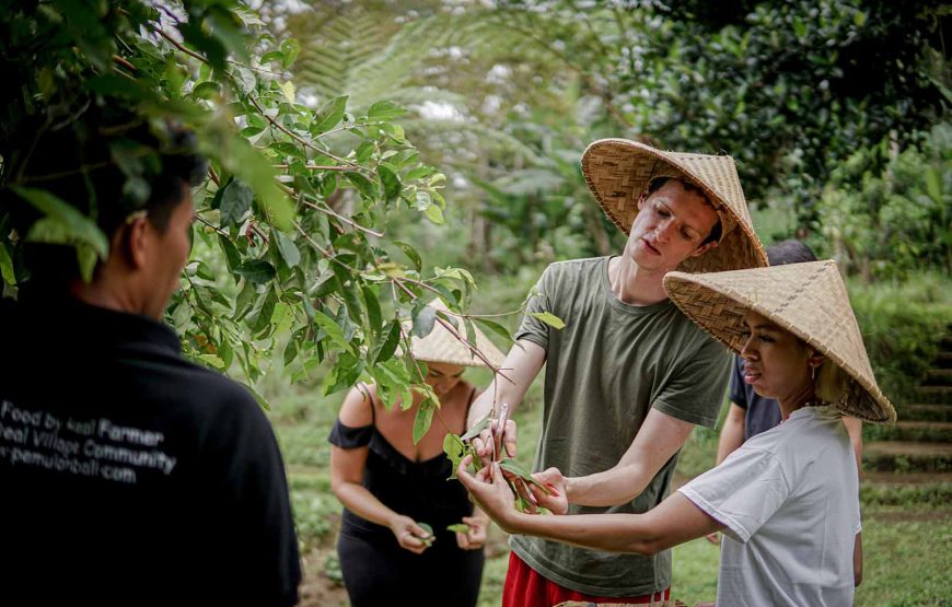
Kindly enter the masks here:
M 685 314 L 740 352 L 744 381 L 780 402 L 780 425 L 645 514 L 522 514 L 498 465 L 473 477 L 464 460 L 461 481 L 507 532 L 597 550 L 653 555 L 722 530 L 719 605 L 851 605 L 862 575 L 859 478 L 841 417 L 892 423 L 896 415 L 875 384 L 836 264 L 671 272 L 664 284 Z M 565 487 L 557 489 L 535 498 L 565 512 Z

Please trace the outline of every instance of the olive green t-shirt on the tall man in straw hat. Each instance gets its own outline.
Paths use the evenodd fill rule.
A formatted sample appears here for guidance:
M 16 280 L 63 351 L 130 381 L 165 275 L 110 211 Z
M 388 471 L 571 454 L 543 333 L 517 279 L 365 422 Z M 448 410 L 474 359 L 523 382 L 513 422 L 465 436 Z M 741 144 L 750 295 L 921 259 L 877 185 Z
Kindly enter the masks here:
M 549 312 L 555 329 L 525 315 L 516 339 L 546 350 L 545 409 L 535 470 L 581 477 L 613 467 L 650 408 L 713 428 L 730 375 L 728 350 L 670 300 L 623 303 L 608 283 L 608 257 L 550 265 L 527 312 Z M 667 493 L 677 455 L 645 491 L 613 507 L 570 506 L 570 514 L 647 512 Z M 640 596 L 671 585 L 671 551 L 653 557 L 576 548 L 526 536 L 510 545 L 557 584 L 597 596 Z

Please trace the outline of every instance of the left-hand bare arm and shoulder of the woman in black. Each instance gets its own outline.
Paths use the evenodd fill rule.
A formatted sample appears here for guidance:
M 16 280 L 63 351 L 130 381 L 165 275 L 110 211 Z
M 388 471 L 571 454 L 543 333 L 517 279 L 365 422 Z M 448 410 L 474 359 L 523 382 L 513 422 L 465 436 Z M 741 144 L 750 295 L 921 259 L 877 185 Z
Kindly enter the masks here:
M 340 423 L 360 428 L 372 423 L 373 405 L 358 389 L 351 389 L 340 407 Z M 330 447 L 330 490 L 355 514 L 388 527 L 403 548 L 420 553 L 426 545 L 419 538 L 429 534 L 416 521 L 394 512 L 363 487 L 363 469 L 367 464 L 368 447 Z

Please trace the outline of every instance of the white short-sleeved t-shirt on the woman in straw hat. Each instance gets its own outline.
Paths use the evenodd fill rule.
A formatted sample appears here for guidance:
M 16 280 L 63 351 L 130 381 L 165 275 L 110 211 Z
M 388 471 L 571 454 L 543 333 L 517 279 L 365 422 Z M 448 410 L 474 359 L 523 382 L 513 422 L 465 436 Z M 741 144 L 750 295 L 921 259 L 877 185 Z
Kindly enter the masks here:
M 804 407 L 680 489 L 722 523 L 718 605 L 852 605 L 856 456 L 833 407 Z

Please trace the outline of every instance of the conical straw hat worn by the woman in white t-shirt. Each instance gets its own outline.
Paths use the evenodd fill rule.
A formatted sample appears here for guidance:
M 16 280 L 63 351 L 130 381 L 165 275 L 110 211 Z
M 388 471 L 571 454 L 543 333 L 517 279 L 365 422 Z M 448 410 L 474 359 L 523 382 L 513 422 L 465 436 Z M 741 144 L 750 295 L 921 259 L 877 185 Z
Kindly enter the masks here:
M 669 272 L 664 289 L 695 323 L 736 352 L 744 345 L 747 311 L 765 316 L 849 375 L 844 396 L 833 404 L 838 409 L 864 421 L 896 421 L 895 409 L 876 385 L 835 261 L 705 275 Z

